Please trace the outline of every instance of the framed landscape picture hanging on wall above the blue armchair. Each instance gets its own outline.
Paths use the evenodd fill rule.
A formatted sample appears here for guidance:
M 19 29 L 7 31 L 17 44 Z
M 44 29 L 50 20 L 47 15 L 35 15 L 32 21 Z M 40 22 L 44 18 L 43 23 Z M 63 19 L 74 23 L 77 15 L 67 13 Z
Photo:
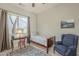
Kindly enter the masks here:
M 74 19 L 62 20 L 61 21 L 61 28 L 74 28 L 74 27 L 75 27 Z

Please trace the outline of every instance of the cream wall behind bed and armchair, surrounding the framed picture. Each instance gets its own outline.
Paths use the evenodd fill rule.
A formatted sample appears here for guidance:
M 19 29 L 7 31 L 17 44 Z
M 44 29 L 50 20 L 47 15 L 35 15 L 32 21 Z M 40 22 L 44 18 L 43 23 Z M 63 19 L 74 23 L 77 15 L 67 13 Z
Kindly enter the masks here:
M 75 28 L 61 29 L 60 23 L 64 19 L 74 19 Z M 60 5 L 38 15 L 38 32 L 40 35 L 55 35 L 60 40 L 61 34 L 71 33 L 79 35 L 79 6 Z

